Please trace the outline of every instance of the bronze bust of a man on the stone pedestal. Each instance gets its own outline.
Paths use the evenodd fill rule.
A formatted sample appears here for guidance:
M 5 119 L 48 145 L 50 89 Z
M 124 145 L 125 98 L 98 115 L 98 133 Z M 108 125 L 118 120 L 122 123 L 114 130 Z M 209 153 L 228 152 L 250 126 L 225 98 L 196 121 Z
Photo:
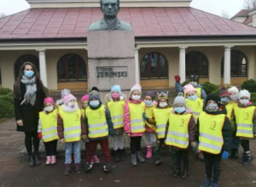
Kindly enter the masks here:
M 89 31 L 104 30 L 124 30 L 131 31 L 132 27 L 129 23 L 121 21 L 117 18 L 119 12 L 119 0 L 101 0 L 101 9 L 103 13 L 102 20 L 91 24 Z

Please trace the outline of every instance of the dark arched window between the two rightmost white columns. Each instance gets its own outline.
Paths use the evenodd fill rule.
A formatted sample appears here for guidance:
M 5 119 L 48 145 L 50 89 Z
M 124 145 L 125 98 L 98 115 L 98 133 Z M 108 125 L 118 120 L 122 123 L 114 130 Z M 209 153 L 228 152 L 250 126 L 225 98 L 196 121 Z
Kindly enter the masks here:
M 199 77 L 208 77 L 208 61 L 204 54 L 192 51 L 186 54 L 186 77 L 196 74 Z

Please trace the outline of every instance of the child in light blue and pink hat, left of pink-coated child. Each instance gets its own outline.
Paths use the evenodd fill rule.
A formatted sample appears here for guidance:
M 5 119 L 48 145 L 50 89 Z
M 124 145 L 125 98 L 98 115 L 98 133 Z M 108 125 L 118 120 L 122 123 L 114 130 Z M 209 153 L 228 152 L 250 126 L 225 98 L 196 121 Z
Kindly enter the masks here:
M 125 148 L 124 141 L 124 105 L 125 100 L 120 99 L 121 88 L 119 85 L 111 87 L 111 100 L 108 101 L 108 110 L 113 122 L 113 151 L 114 161 L 123 161 Z

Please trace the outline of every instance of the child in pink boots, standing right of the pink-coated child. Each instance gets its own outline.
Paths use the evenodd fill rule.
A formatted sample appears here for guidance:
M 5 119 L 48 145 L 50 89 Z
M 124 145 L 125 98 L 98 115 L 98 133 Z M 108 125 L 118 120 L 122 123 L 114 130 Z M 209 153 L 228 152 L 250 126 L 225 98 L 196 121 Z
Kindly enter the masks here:
M 148 118 L 152 118 L 154 116 L 154 109 L 156 106 L 156 102 L 154 101 L 154 92 L 147 91 L 145 94 L 145 114 Z M 147 155 L 146 158 L 152 157 L 152 145 L 156 142 L 155 137 L 155 122 L 146 122 L 146 145 L 147 145 Z

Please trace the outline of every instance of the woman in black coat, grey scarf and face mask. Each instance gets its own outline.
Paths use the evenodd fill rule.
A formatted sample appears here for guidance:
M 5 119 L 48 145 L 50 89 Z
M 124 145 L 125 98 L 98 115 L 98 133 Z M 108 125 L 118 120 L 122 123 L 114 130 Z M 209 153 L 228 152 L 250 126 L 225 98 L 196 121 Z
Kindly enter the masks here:
M 25 133 L 25 145 L 29 156 L 28 165 L 39 165 L 38 159 L 38 112 L 44 108 L 46 93 L 39 78 L 37 68 L 30 62 L 20 67 L 20 75 L 15 82 L 15 120 L 17 131 Z M 32 153 L 32 147 L 34 154 Z

